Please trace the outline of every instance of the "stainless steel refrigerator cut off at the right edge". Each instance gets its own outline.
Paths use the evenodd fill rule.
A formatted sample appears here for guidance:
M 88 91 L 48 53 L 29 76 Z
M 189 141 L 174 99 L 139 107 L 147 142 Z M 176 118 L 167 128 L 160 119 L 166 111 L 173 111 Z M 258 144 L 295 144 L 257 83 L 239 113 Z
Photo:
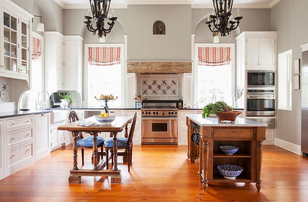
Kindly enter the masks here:
M 308 156 L 308 51 L 302 53 L 302 152 Z

